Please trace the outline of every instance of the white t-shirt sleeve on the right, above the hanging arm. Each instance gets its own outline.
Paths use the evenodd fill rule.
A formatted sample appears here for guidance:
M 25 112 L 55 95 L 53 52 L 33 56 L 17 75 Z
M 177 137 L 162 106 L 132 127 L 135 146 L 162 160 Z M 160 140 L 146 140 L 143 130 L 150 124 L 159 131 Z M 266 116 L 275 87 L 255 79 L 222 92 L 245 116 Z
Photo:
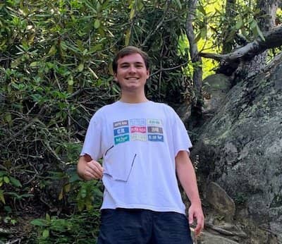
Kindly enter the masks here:
M 181 121 L 175 111 L 174 114 L 175 118 L 173 124 L 173 149 L 174 156 L 176 157 L 179 151 L 187 151 L 188 153 L 190 153 L 189 149 L 190 147 L 192 147 L 192 143 L 184 126 L 184 123 Z

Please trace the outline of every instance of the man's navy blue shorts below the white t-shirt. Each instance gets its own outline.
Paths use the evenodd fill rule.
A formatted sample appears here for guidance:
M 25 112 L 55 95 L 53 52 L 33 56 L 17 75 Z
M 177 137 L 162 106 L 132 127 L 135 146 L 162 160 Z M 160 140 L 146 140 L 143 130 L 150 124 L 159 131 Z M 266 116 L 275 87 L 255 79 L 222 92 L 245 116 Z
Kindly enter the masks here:
M 146 209 L 102 209 L 98 244 L 174 243 L 193 243 L 184 214 Z

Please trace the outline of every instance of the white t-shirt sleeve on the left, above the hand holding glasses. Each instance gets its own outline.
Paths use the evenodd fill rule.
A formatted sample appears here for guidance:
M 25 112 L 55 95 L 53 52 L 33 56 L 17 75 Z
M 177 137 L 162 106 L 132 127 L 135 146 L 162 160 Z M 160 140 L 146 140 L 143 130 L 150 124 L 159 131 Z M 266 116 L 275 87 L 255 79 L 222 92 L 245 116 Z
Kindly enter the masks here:
M 101 145 L 102 145 L 102 123 L 101 123 L 101 118 L 97 113 L 94 114 L 94 116 L 92 116 L 90 120 L 80 156 L 88 154 L 94 160 L 102 158 Z

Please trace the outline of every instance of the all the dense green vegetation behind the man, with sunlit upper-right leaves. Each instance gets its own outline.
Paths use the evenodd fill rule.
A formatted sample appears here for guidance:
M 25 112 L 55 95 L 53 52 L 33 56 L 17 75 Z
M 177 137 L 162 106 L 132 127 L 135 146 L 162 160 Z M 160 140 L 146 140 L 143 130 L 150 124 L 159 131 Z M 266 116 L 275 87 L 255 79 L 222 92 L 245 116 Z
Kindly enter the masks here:
M 202 4 L 199 47 L 221 50 L 222 6 Z M 240 29 L 262 35 L 252 9 L 238 9 L 229 39 Z M 142 47 L 152 59 L 149 99 L 193 101 L 187 14 L 180 0 L 0 4 L 0 243 L 94 243 L 102 184 L 80 181 L 75 167 L 90 117 L 118 99 L 111 59 L 125 45 Z M 204 63 L 205 73 L 213 67 Z

